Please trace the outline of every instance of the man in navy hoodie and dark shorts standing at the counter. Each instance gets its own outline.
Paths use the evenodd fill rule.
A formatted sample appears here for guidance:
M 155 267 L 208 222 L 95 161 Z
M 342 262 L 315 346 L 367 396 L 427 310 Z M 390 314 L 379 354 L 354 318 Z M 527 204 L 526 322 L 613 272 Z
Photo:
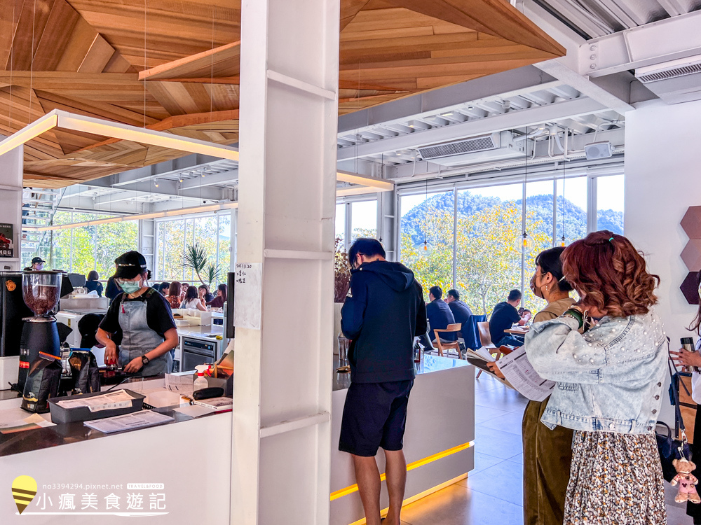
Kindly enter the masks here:
M 414 337 L 426 334 L 426 305 L 414 272 L 385 260 L 376 239 L 356 240 L 348 260 L 351 288 L 341 309 L 341 330 L 351 339 L 351 386 L 339 450 L 353 455 L 367 525 L 379 525 L 381 482 L 375 455 L 384 449 L 390 499 L 386 524 L 400 525 L 407 482 L 404 426 L 416 376 Z

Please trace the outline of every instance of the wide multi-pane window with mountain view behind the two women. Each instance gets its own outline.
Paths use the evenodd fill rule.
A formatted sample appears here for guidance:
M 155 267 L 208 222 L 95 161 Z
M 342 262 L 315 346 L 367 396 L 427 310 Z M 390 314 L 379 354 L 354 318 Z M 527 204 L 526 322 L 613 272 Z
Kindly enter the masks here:
M 400 195 L 400 260 L 425 289 L 458 289 L 475 314 L 491 314 L 514 288 L 523 289 L 524 307 L 535 313 L 545 306 L 529 289 L 540 251 L 560 246 L 563 235 L 565 244 L 585 237 L 587 210 L 597 212 L 597 221 L 589 223 L 598 229 L 622 233 L 623 177 L 595 182 L 597 207 L 587 193 L 587 176 L 529 182 L 525 201 L 523 183 L 458 190 L 457 203 L 453 190 L 428 198 Z M 522 254 L 524 210 L 532 249 Z M 424 239 L 433 246 L 426 256 L 416 247 Z

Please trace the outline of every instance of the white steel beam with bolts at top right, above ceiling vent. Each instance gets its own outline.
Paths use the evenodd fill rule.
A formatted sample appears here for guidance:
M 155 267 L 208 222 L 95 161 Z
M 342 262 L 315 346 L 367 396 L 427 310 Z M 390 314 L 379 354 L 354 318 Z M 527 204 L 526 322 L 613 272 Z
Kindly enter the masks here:
M 605 76 L 695 55 L 701 55 L 701 11 L 587 41 L 578 50 L 578 72 Z

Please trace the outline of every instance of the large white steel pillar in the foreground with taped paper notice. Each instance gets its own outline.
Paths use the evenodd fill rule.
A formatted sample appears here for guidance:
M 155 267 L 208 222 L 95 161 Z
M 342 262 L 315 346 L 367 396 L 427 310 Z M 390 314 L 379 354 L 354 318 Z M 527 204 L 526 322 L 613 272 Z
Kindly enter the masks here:
M 339 17 L 242 3 L 236 525 L 329 522 Z

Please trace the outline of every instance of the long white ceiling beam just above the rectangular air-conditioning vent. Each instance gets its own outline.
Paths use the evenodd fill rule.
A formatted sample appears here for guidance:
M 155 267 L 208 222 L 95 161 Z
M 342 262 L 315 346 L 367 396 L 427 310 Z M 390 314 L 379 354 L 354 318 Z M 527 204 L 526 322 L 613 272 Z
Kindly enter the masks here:
M 379 155 L 390 151 L 402 149 L 415 149 L 419 146 L 437 144 L 440 142 L 474 137 L 484 133 L 511 130 L 520 127 L 533 126 L 571 118 L 572 116 L 588 115 L 599 111 L 606 111 L 606 106 L 590 98 L 580 98 L 556 102 L 548 106 L 537 106 L 522 111 L 510 111 L 502 115 L 478 120 L 468 120 L 464 123 L 446 127 L 435 127 L 433 130 L 414 132 L 400 137 L 393 137 L 382 141 L 360 144 L 351 148 L 342 148 L 338 151 L 338 160 L 365 157 L 367 155 Z

